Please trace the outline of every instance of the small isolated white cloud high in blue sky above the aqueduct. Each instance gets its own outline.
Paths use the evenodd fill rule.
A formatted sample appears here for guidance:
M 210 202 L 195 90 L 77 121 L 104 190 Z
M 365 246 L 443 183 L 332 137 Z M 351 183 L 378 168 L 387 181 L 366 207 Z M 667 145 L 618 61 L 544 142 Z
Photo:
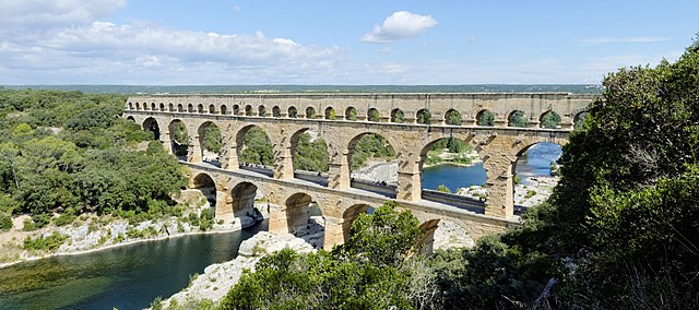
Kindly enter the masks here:
M 368 43 L 390 43 L 415 37 L 437 25 L 430 15 L 418 15 L 407 11 L 394 12 L 383 21 L 383 25 L 376 25 L 371 33 L 362 37 Z

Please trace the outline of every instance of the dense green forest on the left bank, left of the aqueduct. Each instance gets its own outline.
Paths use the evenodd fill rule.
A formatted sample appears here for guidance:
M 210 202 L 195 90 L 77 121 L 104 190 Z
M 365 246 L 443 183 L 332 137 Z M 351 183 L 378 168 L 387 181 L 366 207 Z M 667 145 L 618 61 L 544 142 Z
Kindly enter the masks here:
M 158 214 L 174 203 L 185 171 L 152 132 L 119 117 L 125 99 L 0 88 L 1 228 L 13 213 L 42 227 L 55 212 Z

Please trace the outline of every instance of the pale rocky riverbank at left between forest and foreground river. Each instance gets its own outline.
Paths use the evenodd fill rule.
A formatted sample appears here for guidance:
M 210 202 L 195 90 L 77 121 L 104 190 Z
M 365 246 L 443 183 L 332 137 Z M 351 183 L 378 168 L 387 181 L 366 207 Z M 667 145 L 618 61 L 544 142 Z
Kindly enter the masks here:
M 202 212 L 210 208 L 205 199 L 203 201 L 203 204 L 182 213 L 181 216 L 167 216 L 138 223 L 112 215 L 98 216 L 86 213 L 66 226 L 49 224 L 44 228 L 25 231 L 24 223 L 29 216 L 17 216 L 13 218 L 12 229 L 0 233 L 0 269 L 26 261 L 58 255 L 85 254 L 139 242 L 200 234 L 232 233 L 269 217 L 266 213 L 262 213 L 264 207 L 260 205 L 257 207 L 260 212 L 259 218 L 242 216 L 232 223 L 213 223 L 209 228 L 200 224 Z M 60 245 L 48 248 L 33 246 L 34 243 L 45 243 L 44 240 L 49 240 L 52 236 L 60 237 L 58 238 L 62 240 Z M 28 242 L 27 240 L 40 241 Z

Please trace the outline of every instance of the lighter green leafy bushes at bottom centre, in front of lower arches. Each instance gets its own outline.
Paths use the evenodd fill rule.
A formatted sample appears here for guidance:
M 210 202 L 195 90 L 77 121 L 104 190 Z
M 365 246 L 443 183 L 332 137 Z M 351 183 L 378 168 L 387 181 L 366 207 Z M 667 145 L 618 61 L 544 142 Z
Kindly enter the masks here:
M 408 212 L 399 214 L 393 207 L 386 204 L 374 215 L 362 215 L 364 219 L 357 220 L 363 222 L 353 224 L 351 240 L 332 252 L 298 254 L 285 249 L 262 258 L 254 273 L 242 274 L 220 308 L 424 308 L 429 302 L 425 296 L 433 293 L 412 285 L 426 274 L 418 258 L 410 255 L 422 229 Z M 429 283 L 422 285 L 431 287 Z

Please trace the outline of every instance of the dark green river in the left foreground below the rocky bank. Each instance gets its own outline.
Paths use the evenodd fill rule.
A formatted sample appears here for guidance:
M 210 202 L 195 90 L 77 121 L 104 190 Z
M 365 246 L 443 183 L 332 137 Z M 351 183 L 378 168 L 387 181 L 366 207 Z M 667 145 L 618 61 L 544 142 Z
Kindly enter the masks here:
M 143 309 L 189 284 L 190 275 L 235 259 L 240 242 L 266 230 L 146 241 L 0 269 L 0 309 Z

